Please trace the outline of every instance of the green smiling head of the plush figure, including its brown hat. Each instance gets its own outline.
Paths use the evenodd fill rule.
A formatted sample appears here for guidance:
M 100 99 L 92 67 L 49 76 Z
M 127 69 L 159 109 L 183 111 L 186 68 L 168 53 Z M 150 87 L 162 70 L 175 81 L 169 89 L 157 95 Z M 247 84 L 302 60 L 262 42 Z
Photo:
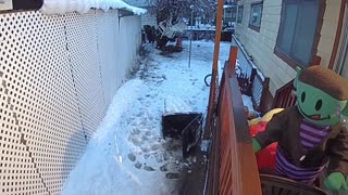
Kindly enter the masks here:
M 325 79 L 330 78 L 330 79 Z M 297 106 L 309 121 L 333 126 L 348 116 L 347 89 L 337 86 L 346 83 L 344 78 L 322 66 L 301 70 L 297 68 L 295 88 Z

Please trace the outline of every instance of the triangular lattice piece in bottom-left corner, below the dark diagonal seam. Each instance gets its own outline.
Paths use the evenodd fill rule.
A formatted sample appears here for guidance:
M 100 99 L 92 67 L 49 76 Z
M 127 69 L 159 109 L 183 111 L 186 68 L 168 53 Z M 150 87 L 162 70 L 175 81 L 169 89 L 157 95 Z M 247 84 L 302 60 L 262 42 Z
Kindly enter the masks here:
M 1 67 L 3 69 L 3 67 Z M 13 106 L 9 104 L 7 83 L 0 87 L 0 194 L 33 193 L 47 194 L 39 172 L 32 161 L 27 146 L 21 142 L 20 130 Z

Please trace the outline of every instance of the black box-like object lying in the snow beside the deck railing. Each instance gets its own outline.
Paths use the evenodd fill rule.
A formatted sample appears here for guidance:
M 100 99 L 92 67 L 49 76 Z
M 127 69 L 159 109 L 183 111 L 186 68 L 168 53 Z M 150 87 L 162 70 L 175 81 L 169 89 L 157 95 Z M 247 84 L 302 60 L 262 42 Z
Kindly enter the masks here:
M 162 116 L 163 138 L 182 139 L 183 157 L 188 156 L 191 147 L 196 146 L 202 134 L 201 113 L 174 113 Z

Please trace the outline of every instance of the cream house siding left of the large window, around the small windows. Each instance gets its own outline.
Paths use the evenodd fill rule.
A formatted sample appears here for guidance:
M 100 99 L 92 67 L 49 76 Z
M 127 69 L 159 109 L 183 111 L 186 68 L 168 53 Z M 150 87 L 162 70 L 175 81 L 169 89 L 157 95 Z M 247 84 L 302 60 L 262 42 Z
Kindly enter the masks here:
M 260 32 L 248 27 L 251 3 L 257 0 L 241 0 L 244 4 L 243 22 L 237 25 L 236 37 L 244 44 L 246 51 L 252 55 L 254 64 L 270 77 L 270 91 L 274 95 L 276 89 L 295 77 L 296 72 L 273 51 L 276 43 L 281 22 L 282 1 L 263 1 Z M 272 69 L 272 72 L 270 72 Z

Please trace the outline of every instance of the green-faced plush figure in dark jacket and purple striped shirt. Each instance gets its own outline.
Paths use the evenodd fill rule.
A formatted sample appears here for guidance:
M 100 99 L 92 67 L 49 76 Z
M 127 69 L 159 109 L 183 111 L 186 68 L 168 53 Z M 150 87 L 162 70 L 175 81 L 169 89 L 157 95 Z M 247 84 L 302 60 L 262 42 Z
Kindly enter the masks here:
M 348 80 L 311 66 L 297 68 L 297 105 L 277 113 L 252 139 L 256 152 L 277 142 L 277 174 L 312 184 L 325 166 L 327 190 L 348 190 Z

